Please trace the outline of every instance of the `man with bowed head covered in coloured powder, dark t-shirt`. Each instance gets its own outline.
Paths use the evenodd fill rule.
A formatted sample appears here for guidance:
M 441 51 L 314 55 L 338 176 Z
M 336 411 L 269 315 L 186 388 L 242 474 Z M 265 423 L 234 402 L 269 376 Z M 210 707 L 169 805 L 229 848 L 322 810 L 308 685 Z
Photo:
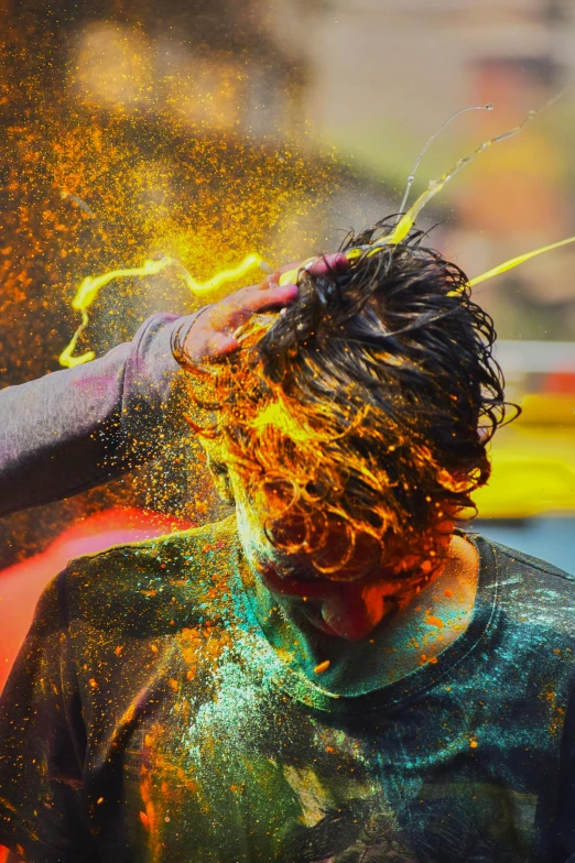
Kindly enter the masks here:
M 302 273 L 239 331 L 217 308 L 192 326 L 186 343 L 204 319 L 230 351 L 182 360 L 236 514 L 80 558 L 45 591 L 3 698 L 12 853 L 574 850 L 574 586 L 454 529 L 503 393 L 490 319 L 421 239 Z

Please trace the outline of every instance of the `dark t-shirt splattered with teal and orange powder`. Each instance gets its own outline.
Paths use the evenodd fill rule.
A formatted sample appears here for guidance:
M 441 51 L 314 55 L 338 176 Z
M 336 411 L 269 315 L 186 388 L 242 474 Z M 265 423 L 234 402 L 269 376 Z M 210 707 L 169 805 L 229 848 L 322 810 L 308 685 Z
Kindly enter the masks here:
M 271 648 L 234 520 L 74 561 L 4 691 L 0 843 L 33 863 L 566 860 L 574 580 L 474 542 L 468 629 L 349 698 Z

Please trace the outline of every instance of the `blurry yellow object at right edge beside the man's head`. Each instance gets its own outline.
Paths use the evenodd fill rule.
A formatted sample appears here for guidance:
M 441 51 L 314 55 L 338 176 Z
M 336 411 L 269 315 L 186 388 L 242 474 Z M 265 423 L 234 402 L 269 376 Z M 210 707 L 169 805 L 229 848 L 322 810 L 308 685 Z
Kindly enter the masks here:
M 528 395 L 492 444 L 492 473 L 474 495 L 484 518 L 575 515 L 575 394 Z

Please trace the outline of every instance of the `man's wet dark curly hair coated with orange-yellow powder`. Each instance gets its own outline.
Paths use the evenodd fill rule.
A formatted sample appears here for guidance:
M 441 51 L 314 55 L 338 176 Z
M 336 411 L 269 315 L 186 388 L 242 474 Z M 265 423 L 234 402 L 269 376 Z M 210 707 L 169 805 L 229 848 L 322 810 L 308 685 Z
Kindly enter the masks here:
M 213 379 L 226 460 L 270 542 L 311 555 L 318 577 L 346 577 L 360 534 L 382 567 L 432 573 L 446 520 L 489 478 L 507 407 L 493 323 L 424 237 L 370 247 L 346 272 L 301 271 L 299 299 L 248 324 Z

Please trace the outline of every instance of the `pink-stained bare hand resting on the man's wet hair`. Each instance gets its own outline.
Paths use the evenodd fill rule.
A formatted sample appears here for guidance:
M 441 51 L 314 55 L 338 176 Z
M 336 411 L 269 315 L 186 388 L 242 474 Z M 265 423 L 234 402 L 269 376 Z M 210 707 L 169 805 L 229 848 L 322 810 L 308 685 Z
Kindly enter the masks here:
M 297 299 L 297 285 L 280 285 L 279 282 L 283 273 L 296 273 L 301 266 L 301 263 L 285 264 L 267 275 L 260 284 L 242 287 L 219 303 L 207 306 L 192 320 L 183 346 L 178 335 L 182 332 L 180 326 L 172 346 L 177 362 L 188 371 L 198 371 L 203 362 L 215 361 L 237 350 L 239 342 L 234 334 L 251 315 L 281 309 Z M 316 275 L 323 275 L 335 269 L 347 270 L 348 266 L 345 254 L 338 252 L 318 258 L 308 264 L 307 269 Z

